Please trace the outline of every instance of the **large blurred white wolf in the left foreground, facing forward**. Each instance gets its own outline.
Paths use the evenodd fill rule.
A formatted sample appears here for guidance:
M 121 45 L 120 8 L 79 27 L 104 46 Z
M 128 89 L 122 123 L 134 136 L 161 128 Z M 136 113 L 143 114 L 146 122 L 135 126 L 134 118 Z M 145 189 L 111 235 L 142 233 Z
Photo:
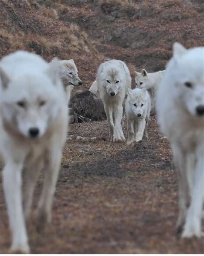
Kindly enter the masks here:
M 31 210 L 41 169 L 44 184 L 37 226 L 51 220 L 51 206 L 67 134 L 68 107 L 58 61 L 17 51 L 0 61 L 0 154 L 3 189 L 12 232 L 11 251 L 29 253 L 24 217 Z M 25 168 L 25 204 L 22 170 Z

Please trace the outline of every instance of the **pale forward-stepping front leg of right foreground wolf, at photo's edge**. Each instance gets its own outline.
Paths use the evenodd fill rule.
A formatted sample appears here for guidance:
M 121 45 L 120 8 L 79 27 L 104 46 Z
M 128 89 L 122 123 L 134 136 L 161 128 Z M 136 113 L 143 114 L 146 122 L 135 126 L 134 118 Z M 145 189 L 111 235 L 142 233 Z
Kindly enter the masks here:
M 204 145 L 197 152 L 195 180 L 192 187 L 191 205 L 187 212 L 182 237 L 201 237 L 202 208 L 204 203 Z

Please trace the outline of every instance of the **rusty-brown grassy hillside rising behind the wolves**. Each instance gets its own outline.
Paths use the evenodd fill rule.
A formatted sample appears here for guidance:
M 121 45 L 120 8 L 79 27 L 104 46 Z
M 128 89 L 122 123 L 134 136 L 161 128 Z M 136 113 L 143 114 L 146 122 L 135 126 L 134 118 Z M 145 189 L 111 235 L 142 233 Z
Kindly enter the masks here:
M 0 0 L 0 56 L 74 58 L 83 88 L 106 58 L 164 69 L 172 44 L 204 45 L 203 0 Z

